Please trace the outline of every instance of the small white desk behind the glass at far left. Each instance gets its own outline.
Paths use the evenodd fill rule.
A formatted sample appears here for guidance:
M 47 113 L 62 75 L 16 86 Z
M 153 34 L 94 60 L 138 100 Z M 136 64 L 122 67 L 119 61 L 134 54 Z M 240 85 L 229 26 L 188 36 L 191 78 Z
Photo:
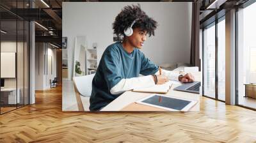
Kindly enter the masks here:
M 7 95 L 6 95 L 7 94 Z M 1 97 L 8 96 L 8 104 L 20 103 L 20 89 L 17 88 L 17 98 L 16 98 L 16 88 L 4 88 L 1 89 Z

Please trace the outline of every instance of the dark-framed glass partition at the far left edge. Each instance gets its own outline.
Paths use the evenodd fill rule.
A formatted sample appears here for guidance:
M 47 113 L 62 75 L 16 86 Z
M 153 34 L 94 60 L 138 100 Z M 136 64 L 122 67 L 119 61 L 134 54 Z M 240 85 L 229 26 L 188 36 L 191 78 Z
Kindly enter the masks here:
M 27 8 L 26 3 L 12 1 L 12 8 Z M 0 114 L 3 114 L 29 104 L 29 22 L 3 8 L 0 14 Z

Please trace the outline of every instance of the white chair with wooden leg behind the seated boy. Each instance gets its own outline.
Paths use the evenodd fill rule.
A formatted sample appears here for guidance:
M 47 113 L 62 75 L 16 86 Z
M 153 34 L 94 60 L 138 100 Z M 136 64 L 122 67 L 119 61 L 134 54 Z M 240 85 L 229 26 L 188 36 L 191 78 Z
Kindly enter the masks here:
M 92 93 L 92 80 L 94 75 L 95 74 L 73 77 L 77 107 L 79 111 L 89 111 L 90 96 Z

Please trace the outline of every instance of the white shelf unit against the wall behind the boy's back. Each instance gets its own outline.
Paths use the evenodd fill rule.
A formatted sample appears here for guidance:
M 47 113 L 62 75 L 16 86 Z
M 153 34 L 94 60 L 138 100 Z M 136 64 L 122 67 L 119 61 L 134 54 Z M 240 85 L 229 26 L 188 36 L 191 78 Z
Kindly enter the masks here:
M 97 66 L 97 49 L 86 49 L 86 74 L 95 73 Z

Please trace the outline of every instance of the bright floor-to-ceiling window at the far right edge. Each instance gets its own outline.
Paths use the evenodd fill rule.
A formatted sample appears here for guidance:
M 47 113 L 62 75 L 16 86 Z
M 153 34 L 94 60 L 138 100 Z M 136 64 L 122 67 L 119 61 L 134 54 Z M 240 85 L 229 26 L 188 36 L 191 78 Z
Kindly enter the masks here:
M 245 85 L 256 83 L 256 3 L 237 11 L 238 104 L 256 109 L 256 96 L 244 97 Z

